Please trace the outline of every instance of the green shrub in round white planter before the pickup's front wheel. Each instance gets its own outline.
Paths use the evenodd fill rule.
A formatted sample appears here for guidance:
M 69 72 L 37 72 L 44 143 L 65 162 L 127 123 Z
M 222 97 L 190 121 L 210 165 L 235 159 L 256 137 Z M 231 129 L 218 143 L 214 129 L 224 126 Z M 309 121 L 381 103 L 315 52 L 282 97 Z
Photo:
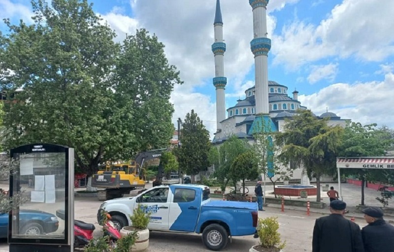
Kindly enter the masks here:
M 138 204 L 130 216 L 131 226 L 125 226 L 120 230 L 122 237 L 131 233 L 136 233 L 137 235 L 135 243 L 130 247 L 130 252 L 143 252 L 149 246 L 149 229 L 147 227 L 151 213 L 147 213 L 145 209 L 145 206 Z

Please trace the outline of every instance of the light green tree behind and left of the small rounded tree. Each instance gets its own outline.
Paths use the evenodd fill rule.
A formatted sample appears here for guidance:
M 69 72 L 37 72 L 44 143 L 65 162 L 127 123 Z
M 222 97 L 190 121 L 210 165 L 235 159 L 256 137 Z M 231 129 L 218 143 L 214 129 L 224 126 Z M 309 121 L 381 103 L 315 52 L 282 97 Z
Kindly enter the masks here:
M 236 182 L 239 181 L 239 178 L 233 178 L 230 176 L 230 169 L 232 162 L 239 155 L 245 153 L 250 148 L 250 145 L 243 139 L 239 139 L 236 135 L 230 136 L 223 145 L 219 147 L 219 153 L 217 161 L 217 167 L 215 167 L 215 171 L 213 175 L 216 177 L 216 180 L 221 184 L 222 191 L 226 190 L 226 187 L 230 181 L 233 182 L 233 186 L 236 190 Z M 234 181 L 234 179 L 236 179 Z

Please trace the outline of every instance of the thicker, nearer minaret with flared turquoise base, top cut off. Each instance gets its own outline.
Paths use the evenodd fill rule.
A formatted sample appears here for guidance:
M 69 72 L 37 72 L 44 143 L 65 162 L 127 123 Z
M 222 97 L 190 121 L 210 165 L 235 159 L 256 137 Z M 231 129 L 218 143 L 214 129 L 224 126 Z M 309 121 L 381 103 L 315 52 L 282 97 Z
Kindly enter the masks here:
M 255 55 L 256 117 L 249 134 L 256 131 L 276 131 L 269 117 L 268 104 L 268 52 L 271 39 L 267 38 L 266 10 L 269 0 L 249 0 L 253 9 L 254 38 L 250 48 Z

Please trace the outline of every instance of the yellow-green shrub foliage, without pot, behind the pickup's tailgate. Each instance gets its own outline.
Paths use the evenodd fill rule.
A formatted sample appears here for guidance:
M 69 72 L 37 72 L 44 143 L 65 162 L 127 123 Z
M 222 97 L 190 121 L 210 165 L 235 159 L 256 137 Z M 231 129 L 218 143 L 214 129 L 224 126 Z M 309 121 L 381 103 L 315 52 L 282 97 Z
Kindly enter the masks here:
M 277 217 L 259 218 L 257 233 L 259 234 L 260 244 L 263 248 L 278 248 L 282 250 L 286 246 L 286 242 L 281 242 L 279 222 Z

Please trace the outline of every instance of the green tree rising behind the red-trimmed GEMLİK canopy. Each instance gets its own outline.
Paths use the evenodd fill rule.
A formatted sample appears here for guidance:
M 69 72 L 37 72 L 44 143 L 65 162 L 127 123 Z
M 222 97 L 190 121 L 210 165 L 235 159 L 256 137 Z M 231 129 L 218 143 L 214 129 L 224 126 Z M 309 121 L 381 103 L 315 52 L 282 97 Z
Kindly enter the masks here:
M 376 124 L 348 123 L 345 127 L 339 156 L 341 157 L 383 157 L 392 145 L 390 133 L 376 128 Z M 366 181 L 381 181 L 381 170 L 345 169 L 344 174 L 354 175 L 361 180 L 361 205 L 364 205 Z M 389 177 L 388 177 L 389 178 Z

